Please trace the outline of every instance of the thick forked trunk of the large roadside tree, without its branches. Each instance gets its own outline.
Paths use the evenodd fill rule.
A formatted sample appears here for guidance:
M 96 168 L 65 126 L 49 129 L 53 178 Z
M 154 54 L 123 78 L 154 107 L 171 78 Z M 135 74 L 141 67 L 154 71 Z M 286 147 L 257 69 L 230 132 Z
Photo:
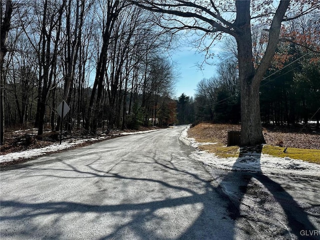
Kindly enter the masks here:
M 259 67 L 253 65 L 252 40 L 250 28 L 250 1 L 236 1 L 236 19 L 234 25 L 237 42 L 239 80 L 241 92 L 241 145 L 265 143 L 260 120 L 259 86 L 274 55 L 281 21 L 290 1 L 280 1 L 274 14 L 268 37 L 268 45 Z

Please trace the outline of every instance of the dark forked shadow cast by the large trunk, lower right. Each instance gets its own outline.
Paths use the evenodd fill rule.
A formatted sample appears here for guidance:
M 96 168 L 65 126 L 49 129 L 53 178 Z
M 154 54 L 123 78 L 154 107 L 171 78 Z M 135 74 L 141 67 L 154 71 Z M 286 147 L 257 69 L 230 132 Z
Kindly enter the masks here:
M 273 237 L 284 237 L 291 239 L 293 233 L 297 239 L 318 239 L 318 236 L 305 235 L 306 232 L 318 230 L 310 222 L 305 209 L 303 209 L 303 207 L 300 206 L 299 203 L 296 202 L 296 200 L 279 183 L 262 173 L 260 165 L 261 152 L 262 145 L 255 147 L 241 147 L 239 157 L 233 164 L 232 171 L 225 175 L 219 184 L 222 191 L 229 196 L 233 206 L 235 206 L 235 211 L 231 212 L 231 217 L 235 220 L 243 217 L 241 204 L 248 191 L 251 191 L 251 196 L 259 198 L 259 204 L 261 204 L 261 207 L 263 207 L 263 203 L 265 203 L 265 200 L 270 194 L 271 202 L 269 203 L 272 204 L 272 201 L 274 201 L 273 204 L 278 204 L 282 208 L 285 214 L 284 218 L 286 218 L 287 222 L 281 224 L 285 224 L 288 227 L 287 228 L 285 225 L 283 225 L 282 233 L 278 232 L 277 234 L 280 235 L 274 235 Z M 250 169 L 248 169 L 247 172 L 239 171 L 239 164 L 246 164 L 248 166 L 251 165 L 252 171 L 250 171 Z M 254 188 L 252 186 L 252 180 L 258 181 L 258 183 L 255 183 L 255 186 L 257 187 L 256 191 L 252 190 L 252 188 Z M 230 185 L 232 182 L 233 184 L 237 182 L 237 184 Z M 261 194 L 259 191 L 259 184 L 262 184 L 268 190 L 268 192 L 266 192 L 268 195 L 259 195 Z M 301 192 L 301 194 L 303 194 L 303 192 Z M 247 210 L 250 210 L 250 205 L 247 205 L 246 208 Z M 244 218 L 245 217 L 247 216 L 244 216 Z M 271 219 L 275 218 L 276 216 L 269 215 L 269 217 Z M 256 221 L 257 219 L 251 220 Z M 265 224 L 267 225 L 268 222 L 264 222 L 264 225 Z M 269 227 L 272 228 L 272 226 Z M 272 234 L 272 232 L 270 233 Z

